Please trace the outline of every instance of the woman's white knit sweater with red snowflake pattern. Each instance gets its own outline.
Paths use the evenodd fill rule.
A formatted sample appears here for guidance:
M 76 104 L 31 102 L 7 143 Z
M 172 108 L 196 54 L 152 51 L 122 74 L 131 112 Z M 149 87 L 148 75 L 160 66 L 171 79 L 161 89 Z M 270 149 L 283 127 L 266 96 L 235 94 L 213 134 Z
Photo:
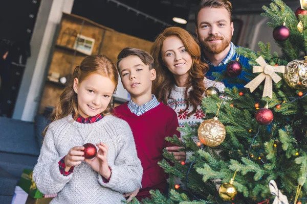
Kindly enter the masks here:
M 224 91 L 225 85 L 221 82 L 215 82 L 215 81 L 211 81 L 208 79 L 204 79 L 204 84 L 205 87 L 212 87 L 213 84 L 215 84 L 215 87 L 220 90 L 220 91 Z M 184 92 L 186 90 L 186 87 L 178 87 L 176 85 L 174 85 L 171 93 L 170 93 L 170 98 L 174 98 L 173 99 L 168 99 L 168 103 L 167 106 L 169 106 L 170 108 L 172 108 L 174 111 L 176 111 L 177 113 L 177 117 L 178 117 L 178 122 L 179 122 L 179 126 L 180 127 L 184 127 L 184 123 L 187 122 L 189 124 L 189 126 L 195 126 L 197 125 L 199 122 L 203 122 L 204 119 L 206 117 L 206 113 L 203 113 L 202 109 L 201 109 L 201 105 L 199 104 L 197 106 L 196 112 L 191 115 L 190 117 L 188 117 L 188 114 L 193 110 L 193 106 L 190 104 L 188 110 L 186 110 L 184 113 L 180 113 L 181 111 L 183 111 L 186 108 L 186 100 L 184 98 Z M 205 95 L 203 95 L 204 97 L 206 97 Z M 224 96 L 221 96 L 221 98 L 223 98 Z M 181 137 L 183 136 L 183 133 L 181 132 Z M 193 138 L 193 141 L 195 143 L 197 143 L 198 137 L 195 136 Z

